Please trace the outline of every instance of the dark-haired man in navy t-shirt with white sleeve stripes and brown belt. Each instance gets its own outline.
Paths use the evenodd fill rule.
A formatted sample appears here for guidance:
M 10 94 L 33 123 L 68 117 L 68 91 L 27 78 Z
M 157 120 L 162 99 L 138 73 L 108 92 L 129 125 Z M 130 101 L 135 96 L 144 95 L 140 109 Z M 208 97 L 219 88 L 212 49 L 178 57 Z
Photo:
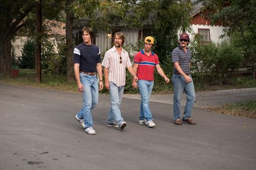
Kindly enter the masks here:
M 92 43 L 92 37 L 92 28 L 82 28 L 84 42 L 74 49 L 73 63 L 77 88 L 82 92 L 84 102 L 83 108 L 75 117 L 86 133 L 94 135 L 96 131 L 93 129 L 91 111 L 98 103 L 98 91 L 102 90 L 104 84 L 102 82 L 100 48 Z M 98 87 L 97 74 L 100 79 L 100 87 Z

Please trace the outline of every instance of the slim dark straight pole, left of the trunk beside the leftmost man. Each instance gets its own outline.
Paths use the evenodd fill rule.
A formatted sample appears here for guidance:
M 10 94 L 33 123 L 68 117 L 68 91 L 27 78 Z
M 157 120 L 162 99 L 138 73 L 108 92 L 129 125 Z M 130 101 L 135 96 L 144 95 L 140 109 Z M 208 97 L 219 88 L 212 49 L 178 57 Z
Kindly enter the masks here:
M 36 2 L 36 83 L 42 82 L 41 52 L 42 52 L 42 0 Z

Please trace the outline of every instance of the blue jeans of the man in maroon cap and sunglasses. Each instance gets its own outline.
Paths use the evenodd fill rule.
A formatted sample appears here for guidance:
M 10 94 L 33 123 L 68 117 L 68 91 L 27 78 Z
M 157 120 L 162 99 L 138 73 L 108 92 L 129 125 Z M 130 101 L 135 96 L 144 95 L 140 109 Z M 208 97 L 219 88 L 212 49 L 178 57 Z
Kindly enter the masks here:
M 191 75 L 189 76 L 191 77 Z M 196 99 L 193 80 L 190 83 L 186 83 L 182 75 L 174 74 L 172 75 L 172 82 L 174 83 L 174 121 L 180 118 L 180 101 L 183 90 L 187 96 L 187 103 L 185 105 L 183 118 L 191 118 L 191 110 Z

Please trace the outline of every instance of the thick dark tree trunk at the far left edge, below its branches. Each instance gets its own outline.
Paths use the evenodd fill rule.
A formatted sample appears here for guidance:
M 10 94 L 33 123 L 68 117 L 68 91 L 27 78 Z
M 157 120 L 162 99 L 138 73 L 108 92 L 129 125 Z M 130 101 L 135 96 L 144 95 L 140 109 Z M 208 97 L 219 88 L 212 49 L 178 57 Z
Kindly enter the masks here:
M 11 36 L 0 35 L 0 75 L 11 76 Z

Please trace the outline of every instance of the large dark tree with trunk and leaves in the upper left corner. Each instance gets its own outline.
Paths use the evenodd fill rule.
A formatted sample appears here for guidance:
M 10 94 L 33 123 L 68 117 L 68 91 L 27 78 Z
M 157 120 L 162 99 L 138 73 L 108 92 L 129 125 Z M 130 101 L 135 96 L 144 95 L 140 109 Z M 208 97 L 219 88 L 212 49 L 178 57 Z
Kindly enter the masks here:
M 43 1 L 43 20 L 57 19 L 62 0 Z M 11 39 L 19 32 L 35 36 L 35 0 L 0 1 L 0 75 L 11 75 Z M 46 31 L 46 28 L 43 29 Z

